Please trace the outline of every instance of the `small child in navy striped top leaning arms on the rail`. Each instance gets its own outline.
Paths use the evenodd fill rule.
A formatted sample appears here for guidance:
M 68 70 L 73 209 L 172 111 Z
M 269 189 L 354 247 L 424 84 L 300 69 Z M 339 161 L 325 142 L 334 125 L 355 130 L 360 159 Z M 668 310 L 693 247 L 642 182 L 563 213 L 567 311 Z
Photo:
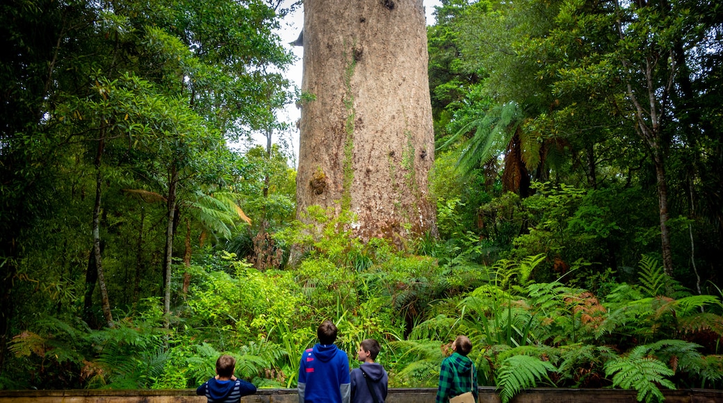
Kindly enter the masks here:
M 221 355 L 216 360 L 216 376 L 196 389 L 196 394 L 208 398 L 208 403 L 239 403 L 242 396 L 256 393 L 256 386 L 234 376 L 236 359 Z

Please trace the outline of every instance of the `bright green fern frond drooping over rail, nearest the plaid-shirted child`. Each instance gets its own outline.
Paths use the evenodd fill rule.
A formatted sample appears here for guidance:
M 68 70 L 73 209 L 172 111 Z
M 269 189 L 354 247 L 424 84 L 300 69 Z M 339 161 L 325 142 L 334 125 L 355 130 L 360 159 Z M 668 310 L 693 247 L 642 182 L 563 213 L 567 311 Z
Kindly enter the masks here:
M 534 388 L 542 378 L 552 384 L 548 372 L 557 372 L 555 365 L 530 355 L 513 355 L 502 361 L 497 375 L 502 403 L 510 402 L 522 389 Z

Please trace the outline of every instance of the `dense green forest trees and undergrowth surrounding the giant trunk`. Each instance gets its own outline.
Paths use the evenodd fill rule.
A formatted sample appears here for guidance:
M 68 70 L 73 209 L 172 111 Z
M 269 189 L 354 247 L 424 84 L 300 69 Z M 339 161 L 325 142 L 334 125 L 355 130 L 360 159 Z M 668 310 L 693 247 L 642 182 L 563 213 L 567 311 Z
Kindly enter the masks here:
M 0 388 L 293 387 L 332 319 L 435 387 L 722 386 L 723 6 L 443 0 L 439 236 L 294 220 L 277 2 L 0 6 Z M 356 365 L 351 363 L 352 366 Z

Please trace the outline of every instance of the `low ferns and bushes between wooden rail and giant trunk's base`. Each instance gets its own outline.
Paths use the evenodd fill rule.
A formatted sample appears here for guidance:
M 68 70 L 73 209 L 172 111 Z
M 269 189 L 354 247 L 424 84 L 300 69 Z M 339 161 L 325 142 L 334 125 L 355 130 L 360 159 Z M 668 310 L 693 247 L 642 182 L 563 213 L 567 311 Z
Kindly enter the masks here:
M 324 212 L 317 212 L 326 217 Z M 481 385 L 502 402 L 534 386 L 636 389 L 641 401 L 661 389 L 716 388 L 723 377 L 721 295 L 690 293 L 643 256 L 634 282 L 612 278 L 578 287 L 576 270 L 549 282 L 534 273 L 544 254 L 479 264 L 472 248 L 413 254 L 387 242 L 361 244 L 341 219 L 280 237 L 294 241 L 299 264 L 259 271 L 228 252 L 210 251 L 177 290 L 169 329 L 160 299 L 143 300 L 111 329 L 89 329 L 72 315 L 39 316 L 10 348 L 14 388 L 191 388 L 213 375 L 215 358 L 236 357 L 237 374 L 260 387 L 294 387 L 301 350 L 333 319 L 337 344 L 382 343 L 378 361 L 392 387 L 435 387 L 457 334 L 473 342 Z M 305 234 L 304 237 L 299 236 Z M 437 250 L 420 239 L 410 250 Z M 437 241 L 440 242 L 440 241 Z M 605 290 L 604 294 L 599 293 Z M 352 362 L 352 366 L 358 365 Z M 20 384 L 19 384 L 20 382 Z

